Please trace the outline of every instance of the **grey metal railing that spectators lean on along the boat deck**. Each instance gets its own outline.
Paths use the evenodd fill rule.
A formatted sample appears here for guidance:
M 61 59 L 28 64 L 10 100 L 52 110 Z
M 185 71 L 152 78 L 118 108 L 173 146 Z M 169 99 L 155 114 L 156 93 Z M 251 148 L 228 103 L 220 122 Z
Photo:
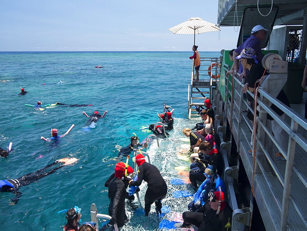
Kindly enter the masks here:
M 225 71 L 226 73 L 228 68 L 228 65 L 224 65 L 222 71 Z M 251 122 L 247 119 L 247 117 L 242 115 L 243 105 L 245 105 L 244 109 L 249 108 L 252 113 L 254 112 L 254 110 L 247 104 L 246 101 L 243 100 L 242 81 L 237 78 L 232 78 L 232 81 L 230 81 L 230 78 L 227 78 L 225 74 L 225 86 L 226 101 L 224 110 L 226 112 L 226 115 L 230 117 L 231 121 L 229 121 L 229 123 L 231 123 L 232 132 L 235 131 L 235 133 L 237 133 L 237 138 L 235 138 L 238 147 L 237 151 L 239 151 L 240 146 L 243 145 L 242 148 L 245 150 L 245 154 L 247 154 L 247 150 L 253 150 L 250 139 L 250 131 L 252 132 L 253 129 L 251 126 Z M 271 193 L 271 195 L 267 195 L 266 197 L 273 198 L 278 207 L 281 222 L 279 224 L 280 227 L 278 227 L 278 224 L 275 224 L 275 228 L 280 230 L 287 230 L 289 207 L 291 202 L 295 211 L 297 212 L 297 217 L 300 218 L 302 225 L 305 226 L 305 228 L 307 229 L 307 217 L 302 211 L 305 208 L 301 208 L 301 204 L 299 202 L 301 201 L 301 198 L 295 198 L 295 196 L 290 194 L 291 186 L 303 187 L 303 189 L 301 189 L 302 191 L 306 191 L 307 189 L 307 182 L 305 176 L 300 173 L 300 169 L 297 169 L 294 166 L 294 157 L 296 150 L 298 148 L 301 148 L 305 152 L 307 152 L 307 140 L 301 134 L 297 133 L 299 127 L 304 131 L 307 130 L 307 120 L 301 118 L 297 114 L 297 112 L 287 107 L 285 104 L 277 100 L 265 90 L 261 89 L 261 87 L 258 88 L 258 93 L 260 93 L 260 98 L 258 98 L 258 104 L 262 107 L 262 109 L 259 111 L 259 116 L 257 117 L 257 151 L 253 151 L 253 158 L 255 161 L 255 169 L 253 169 L 253 173 L 255 175 L 261 175 L 262 177 L 264 177 L 267 184 L 267 191 Z M 254 94 L 249 91 L 247 91 L 247 94 L 250 94 L 252 97 L 254 97 Z M 230 98 L 227 97 L 229 95 Z M 290 124 L 287 123 L 284 119 L 282 119 L 278 114 L 276 114 L 270 108 L 270 106 L 268 106 L 268 103 L 265 103 L 265 101 L 268 101 L 269 103 L 271 102 L 279 109 L 281 109 L 286 114 L 287 119 L 290 118 Z M 272 131 L 268 128 L 270 123 L 266 123 L 267 114 L 273 117 L 273 119 L 289 135 L 287 150 L 284 150 L 281 147 L 281 144 L 278 143 L 276 138 L 272 135 Z M 282 155 L 286 159 L 286 167 L 284 169 L 281 165 L 276 165 L 275 154 L 274 152 L 272 152 L 272 144 L 277 147 L 278 151 L 282 153 Z M 283 171 L 285 171 L 284 175 L 282 174 Z M 299 183 L 296 182 L 296 185 L 292 183 L 293 171 L 299 179 Z M 272 176 L 277 177 L 278 181 L 280 182 L 280 185 L 283 188 L 282 200 L 278 199 L 279 192 L 276 192 L 276 189 L 274 189 L 271 178 Z M 302 197 L 304 196 L 302 195 Z

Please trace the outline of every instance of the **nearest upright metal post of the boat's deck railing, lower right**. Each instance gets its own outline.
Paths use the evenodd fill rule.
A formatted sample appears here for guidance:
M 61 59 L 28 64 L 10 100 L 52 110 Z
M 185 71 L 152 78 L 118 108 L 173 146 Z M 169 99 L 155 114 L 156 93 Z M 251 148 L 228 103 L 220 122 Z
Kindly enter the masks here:
M 294 120 L 291 121 L 291 130 L 292 133 L 297 132 L 298 123 Z M 286 163 L 286 173 L 284 181 L 284 191 L 282 195 L 282 214 L 281 214 L 281 230 L 287 230 L 288 223 L 288 214 L 289 214 L 289 204 L 290 204 L 290 192 L 292 184 L 292 174 L 293 174 L 293 164 L 294 164 L 294 155 L 295 155 L 295 145 L 296 141 L 291 137 L 288 145 L 288 158 Z

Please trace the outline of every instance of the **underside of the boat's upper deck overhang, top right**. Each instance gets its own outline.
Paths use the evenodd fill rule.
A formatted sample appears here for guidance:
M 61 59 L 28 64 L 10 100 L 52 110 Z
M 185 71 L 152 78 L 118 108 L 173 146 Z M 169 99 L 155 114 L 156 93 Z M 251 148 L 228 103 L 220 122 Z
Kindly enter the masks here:
M 259 7 L 270 7 L 271 2 L 271 0 L 259 0 Z M 235 6 L 235 0 L 219 0 L 218 26 L 241 26 L 244 9 L 257 7 L 257 0 L 237 0 L 238 23 Z M 303 25 L 303 16 L 307 14 L 307 0 L 273 0 L 273 6 L 279 8 L 274 26 Z

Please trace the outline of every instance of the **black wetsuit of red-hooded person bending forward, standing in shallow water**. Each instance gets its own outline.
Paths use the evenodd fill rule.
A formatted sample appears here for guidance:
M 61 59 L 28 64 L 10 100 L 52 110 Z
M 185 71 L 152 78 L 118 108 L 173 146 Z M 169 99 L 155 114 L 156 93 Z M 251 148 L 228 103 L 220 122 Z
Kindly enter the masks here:
M 132 181 L 130 185 L 140 186 L 143 180 L 148 184 L 145 194 L 145 216 L 148 216 L 153 202 L 156 204 L 156 211 L 161 213 L 161 200 L 166 196 L 167 185 L 160 171 L 156 166 L 144 162 L 138 168 L 138 180 Z

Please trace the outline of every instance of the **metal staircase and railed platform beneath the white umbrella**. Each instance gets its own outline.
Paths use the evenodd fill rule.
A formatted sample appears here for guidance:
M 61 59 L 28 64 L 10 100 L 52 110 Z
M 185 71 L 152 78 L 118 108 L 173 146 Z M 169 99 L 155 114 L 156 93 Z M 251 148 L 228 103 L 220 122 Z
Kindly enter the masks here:
M 196 107 L 204 108 L 204 100 L 212 101 L 212 88 L 217 86 L 220 77 L 220 58 L 200 58 L 199 81 L 195 82 L 194 61 L 192 66 L 191 84 L 188 85 L 188 117 L 197 113 Z M 215 80 L 215 81 L 214 81 Z

